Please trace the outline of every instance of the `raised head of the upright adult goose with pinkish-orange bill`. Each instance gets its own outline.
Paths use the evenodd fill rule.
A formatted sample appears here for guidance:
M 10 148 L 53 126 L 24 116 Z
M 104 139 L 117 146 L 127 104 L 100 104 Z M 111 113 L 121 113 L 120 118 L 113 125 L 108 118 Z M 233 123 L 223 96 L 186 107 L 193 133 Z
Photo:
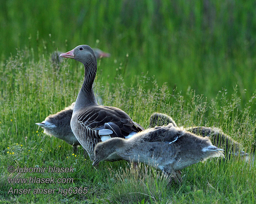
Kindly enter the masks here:
M 88 61 L 97 62 L 93 49 L 91 49 L 91 47 L 88 45 L 79 45 L 75 47 L 73 50 L 70 50 L 66 53 L 62 53 L 59 56 L 72 58 L 76 61 L 82 62 L 83 64 L 86 64 Z

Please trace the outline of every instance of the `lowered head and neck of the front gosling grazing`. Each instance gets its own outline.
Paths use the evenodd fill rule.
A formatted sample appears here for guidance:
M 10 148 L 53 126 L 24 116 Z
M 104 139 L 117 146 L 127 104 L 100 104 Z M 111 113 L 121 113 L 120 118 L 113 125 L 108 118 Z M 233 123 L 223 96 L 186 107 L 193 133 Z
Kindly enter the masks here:
M 94 148 L 93 166 L 115 153 L 117 148 L 123 145 L 123 140 L 122 138 L 115 137 L 104 142 L 99 142 Z

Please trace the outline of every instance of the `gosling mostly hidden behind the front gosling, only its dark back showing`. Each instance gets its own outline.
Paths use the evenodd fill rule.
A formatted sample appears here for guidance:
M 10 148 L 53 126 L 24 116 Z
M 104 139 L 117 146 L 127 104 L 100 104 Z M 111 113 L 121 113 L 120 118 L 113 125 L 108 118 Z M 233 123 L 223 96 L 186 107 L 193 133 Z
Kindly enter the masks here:
M 167 125 L 169 123 L 172 123 L 175 127 L 177 127 L 174 120 L 166 114 L 153 113 L 150 116 L 150 128 L 153 128 L 155 126 Z M 225 147 L 226 157 L 229 157 L 230 154 L 233 154 L 235 156 L 248 155 L 243 150 L 241 150 L 242 145 L 239 142 L 233 140 L 231 137 L 223 133 L 223 131 L 219 128 L 195 126 L 195 127 L 186 128 L 185 130 L 195 135 L 199 135 L 202 137 L 209 137 L 214 145 Z

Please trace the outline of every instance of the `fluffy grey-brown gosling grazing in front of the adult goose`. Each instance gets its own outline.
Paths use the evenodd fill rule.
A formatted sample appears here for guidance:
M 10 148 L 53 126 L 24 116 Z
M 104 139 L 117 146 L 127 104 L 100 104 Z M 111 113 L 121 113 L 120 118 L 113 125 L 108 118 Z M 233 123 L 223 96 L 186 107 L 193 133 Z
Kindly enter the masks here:
M 224 156 L 223 151 L 213 146 L 209 138 L 199 137 L 170 123 L 147 129 L 128 140 L 111 138 L 98 143 L 93 165 L 115 155 L 128 162 L 154 166 L 181 182 L 180 170 L 210 157 Z

